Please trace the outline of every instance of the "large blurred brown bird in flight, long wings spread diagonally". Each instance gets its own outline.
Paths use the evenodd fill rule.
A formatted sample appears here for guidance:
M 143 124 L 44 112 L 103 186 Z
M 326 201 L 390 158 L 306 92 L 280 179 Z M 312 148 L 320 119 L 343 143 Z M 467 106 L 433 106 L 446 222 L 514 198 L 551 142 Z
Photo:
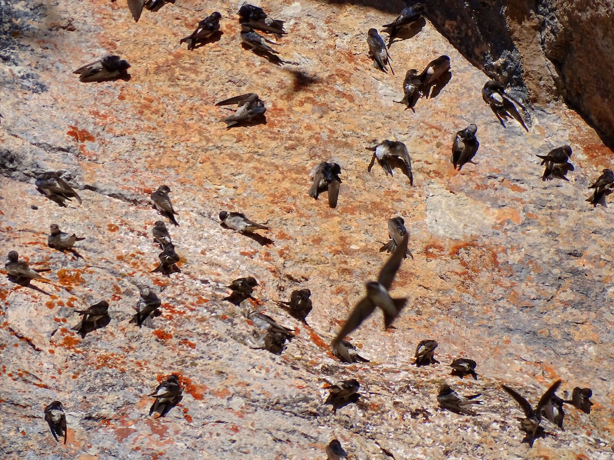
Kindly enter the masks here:
M 346 320 L 335 339 L 333 339 L 331 343 L 332 348 L 336 348 L 338 343 L 340 343 L 341 340 L 346 337 L 346 335 L 358 328 L 358 326 L 360 326 L 360 324 L 362 324 L 362 322 L 375 311 L 376 307 L 381 308 L 382 312 L 384 313 L 385 329 L 392 325 L 392 322 L 401 312 L 403 307 L 405 307 L 407 299 L 392 298 L 388 291 L 405 256 L 408 237 L 408 234 L 403 236 L 400 245 L 397 246 L 395 251 L 380 270 L 378 280 L 376 282 L 371 281 L 366 284 L 367 295 L 360 299 L 352 312 L 349 314 L 348 320 Z

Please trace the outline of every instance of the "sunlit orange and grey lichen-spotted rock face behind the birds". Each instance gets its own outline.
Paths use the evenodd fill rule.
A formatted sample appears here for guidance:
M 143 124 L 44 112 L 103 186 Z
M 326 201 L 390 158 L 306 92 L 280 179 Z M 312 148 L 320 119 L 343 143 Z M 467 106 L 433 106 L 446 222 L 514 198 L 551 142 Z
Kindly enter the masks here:
M 10 250 L 50 282 L 50 296 L 0 278 L 1 458 L 324 458 L 331 439 L 357 459 L 612 458 L 614 339 L 610 209 L 585 202 L 612 152 L 560 102 L 535 108 L 529 132 L 503 128 L 484 105 L 488 77 L 430 21 L 391 47 L 395 75 L 373 69 L 367 30 L 395 17 L 362 5 L 276 1 L 286 20 L 276 66 L 241 47 L 237 2 L 219 2 L 219 40 L 188 52 L 179 40 L 214 11 L 178 1 L 134 23 L 125 2 L 0 2 L 0 254 Z M 130 81 L 80 83 L 71 72 L 107 52 L 131 64 Z M 440 55 L 453 77 L 416 112 L 403 110 L 403 75 Z M 226 129 L 217 101 L 256 92 L 266 124 Z M 547 109 L 547 111 L 546 111 Z M 449 162 L 454 134 L 478 126 L 475 164 Z M 371 141 L 405 142 L 414 186 L 395 170 L 367 172 Z M 535 155 L 573 149 L 569 182 L 542 182 Z M 319 161 L 341 166 L 336 209 L 308 196 Z M 41 171 L 64 171 L 83 204 L 36 191 Z M 179 227 L 167 223 L 182 272 L 152 273 L 160 220 L 149 194 L 166 183 Z M 244 212 L 272 244 L 220 227 Z M 328 343 L 386 255 L 386 220 L 405 218 L 414 259 L 392 294 L 408 305 L 383 331 L 376 312 L 352 343 L 367 363 L 343 364 Z M 84 259 L 47 247 L 49 225 L 85 237 Z M 257 300 L 223 298 L 253 276 Z M 161 299 L 153 329 L 131 324 L 138 285 Z M 311 289 L 308 326 L 274 301 Z M 84 339 L 76 310 L 109 302 L 111 322 Z M 266 310 L 295 339 L 281 355 L 256 350 L 246 315 Z M 440 364 L 412 365 L 437 340 Z M 479 380 L 450 375 L 456 358 Z M 179 375 L 182 401 L 149 417 L 152 393 Z M 329 384 L 356 378 L 360 398 L 336 413 Z M 544 421 L 529 449 L 518 405 L 561 378 L 559 396 L 593 389 L 590 415 L 565 406 L 565 431 Z M 483 394 L 479 416 L 437 407 L 446 381 Z M 68 442 L 43 418 L 64 405 Z

